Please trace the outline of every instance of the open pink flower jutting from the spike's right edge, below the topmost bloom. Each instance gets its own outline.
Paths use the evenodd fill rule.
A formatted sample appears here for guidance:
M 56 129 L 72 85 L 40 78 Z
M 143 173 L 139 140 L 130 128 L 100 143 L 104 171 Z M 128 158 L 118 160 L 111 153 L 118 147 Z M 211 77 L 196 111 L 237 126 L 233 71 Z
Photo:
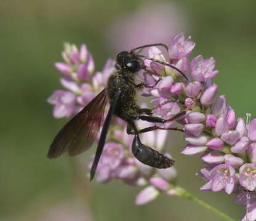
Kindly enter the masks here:
M 202 55 L 198 55 L 191 61 L 191 76 L 199 82 L 204 82 L 218 74 L 218 71 L 214 71 L 214 68 L 214 58 L 210 57 L 204 60 Z

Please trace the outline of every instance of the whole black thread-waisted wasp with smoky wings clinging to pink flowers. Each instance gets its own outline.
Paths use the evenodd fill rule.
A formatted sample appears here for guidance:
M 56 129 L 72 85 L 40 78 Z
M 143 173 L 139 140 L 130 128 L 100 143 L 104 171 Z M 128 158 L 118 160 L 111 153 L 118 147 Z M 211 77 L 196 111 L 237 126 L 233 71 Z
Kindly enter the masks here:
M 185 74 L 175 68 L 175 66 L 138 54 L 143 48 L 151 46 L 163 46 L 167 48 L 164 44 L 150 44 L 134 48 L 133 50 L 130 50 L 130 52 L 121 52 L 118 54 L 116 58 L 116 71 L 108 79 L 106 88 L 92 99 L 92 101 L 90 101 L 82 111 L 63 126 L 62 130 L 60 130 L 50 145 L 47 157 L 56 158 L 64 152 L 68 152 L 70 156 L 74 156 L 89 149 L 97 137 L 100 129 L 100 123 L 103 119 L 105 106 L 109 101 L 110 109 L 106 115 L 102 133 L 100 134 L 94 163 L 90 170 L 90 180 L 94 178 L 113 114 L 128 123 L 128 134 L 135 134 L 134 141 L 132 143 L 132 153 L 135 158 L 154 168 L 168 168 L 174 164 L 174 160 L 171 160 L 162 153 L 151 149 L 151 147 L 147 147 L 140 141 L 138 136 L 139 133 L 156 130 L 158 127 L 151 126 L 138 131 L 134 123 L 135 120 L 138 119 L 153 123 L 164 123 L 174 119 L 164 120 L 159 117 L 153 117 L 150 109 L 141 109 L 138 106 L 136 100 L 137 90 L 140 90 L 143 87 L 149 87 L 148 85 L 145 85 L 145 83 L 136 84 L 134 80 L 135 73 L 141 69 L 146 70 L 143 58 L 170 66 L 186 78 Z M 139 51 L 136 53 L 137 50 Z M 182 114 L 183 113 L 181 112 L 178 115 Z

